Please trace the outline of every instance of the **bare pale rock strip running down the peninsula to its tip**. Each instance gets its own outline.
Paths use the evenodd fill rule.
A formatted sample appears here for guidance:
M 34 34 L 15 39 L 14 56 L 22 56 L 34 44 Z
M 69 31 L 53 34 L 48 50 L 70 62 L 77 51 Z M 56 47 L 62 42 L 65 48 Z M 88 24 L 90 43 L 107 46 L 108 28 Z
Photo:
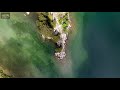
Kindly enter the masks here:
M 51 14 L 53 15 L 53 19 L 56 20 L 56 27 L 54 27 L 54 31 L 60 33 L 60 40 L 57 42 L 57 45 L 62 46 L 62 50 L 60 52 L 56 52 L 55 56 L 58 57 L 58 59 L 62 60 L 66 56 L 66 52 L 65 52 L 66 40 L 68 39 L 68 32 L 69 29 L 71 28 L 69 12 L 51 12 Z M 62 27 L 62 24 L 59 23 L 59 15 L 61 18 L 63 18 L 65 14 L 67 14 L 68 22 L 69 22 L 68 26 L 66 27 L 68 30 L 67 33 L 63 31 L 64 28 Z

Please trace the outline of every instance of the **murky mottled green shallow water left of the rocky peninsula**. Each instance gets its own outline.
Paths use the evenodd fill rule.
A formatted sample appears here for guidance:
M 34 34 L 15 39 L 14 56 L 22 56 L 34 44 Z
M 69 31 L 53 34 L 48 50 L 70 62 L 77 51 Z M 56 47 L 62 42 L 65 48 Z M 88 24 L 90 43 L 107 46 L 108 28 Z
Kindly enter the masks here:
M 34 18 L 22 12 L 0 19 L 0 65 L 15 77 L 59 77 L 54 46 L 39 39 L 36 31 Z

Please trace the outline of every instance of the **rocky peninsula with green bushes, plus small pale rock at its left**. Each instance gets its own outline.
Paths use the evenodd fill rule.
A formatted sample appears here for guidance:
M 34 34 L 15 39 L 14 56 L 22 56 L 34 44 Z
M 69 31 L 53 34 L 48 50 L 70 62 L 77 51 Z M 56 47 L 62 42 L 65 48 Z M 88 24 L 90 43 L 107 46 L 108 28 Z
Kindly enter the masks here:
M 55 44 L 55 56 L 62 60 L 66 56 L 65 46 L 71 28 L 69 12 L 36 12 L 36 25 L 43 40 L 50 40 Z M 26 12 L 26 15 L 29 15 Z

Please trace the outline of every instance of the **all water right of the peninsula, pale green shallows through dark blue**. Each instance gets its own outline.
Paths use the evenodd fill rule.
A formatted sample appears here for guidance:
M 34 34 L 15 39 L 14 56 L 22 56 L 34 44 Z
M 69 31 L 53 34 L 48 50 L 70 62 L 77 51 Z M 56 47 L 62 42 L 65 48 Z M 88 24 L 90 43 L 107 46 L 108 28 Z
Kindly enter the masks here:
M 71 56 L 77 77 L 120 77 L 120 13 L 76 13 Z

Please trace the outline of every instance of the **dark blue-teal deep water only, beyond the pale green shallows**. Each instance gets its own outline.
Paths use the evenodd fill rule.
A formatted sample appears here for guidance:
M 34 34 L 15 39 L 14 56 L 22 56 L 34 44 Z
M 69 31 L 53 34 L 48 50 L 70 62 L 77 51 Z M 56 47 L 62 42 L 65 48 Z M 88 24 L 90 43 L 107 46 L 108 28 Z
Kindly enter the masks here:
M 83 43 L 88 60 L 80 77 L 120 77 L 120 13 L 86 13 Z

